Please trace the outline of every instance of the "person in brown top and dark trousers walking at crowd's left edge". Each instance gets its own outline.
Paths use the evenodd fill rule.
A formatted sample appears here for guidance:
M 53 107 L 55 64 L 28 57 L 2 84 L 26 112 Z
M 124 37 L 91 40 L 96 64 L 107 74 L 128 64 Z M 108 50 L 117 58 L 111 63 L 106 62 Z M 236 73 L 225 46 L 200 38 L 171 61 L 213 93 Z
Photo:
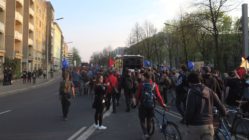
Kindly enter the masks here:
M 60 100 L 62 105 L 63 120 L 67 120 L 69 106 L 71 104 L 71 95 L 75 96 L 74 85 L 70 80 L 69 72 L 65 73 L 65 80 L 60 82 L 59 88 Z

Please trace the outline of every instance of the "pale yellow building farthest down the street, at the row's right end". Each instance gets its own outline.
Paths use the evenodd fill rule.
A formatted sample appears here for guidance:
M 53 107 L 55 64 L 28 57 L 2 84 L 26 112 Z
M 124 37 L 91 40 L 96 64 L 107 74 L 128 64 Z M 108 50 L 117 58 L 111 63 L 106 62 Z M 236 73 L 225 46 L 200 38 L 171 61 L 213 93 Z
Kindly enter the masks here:
M 60 26 L 54 22 L 53 24 L 53 46 L 52 46 L 52 66 L 53 69 L 59 70 L 61 68 L 62 56 L 62 31 Z

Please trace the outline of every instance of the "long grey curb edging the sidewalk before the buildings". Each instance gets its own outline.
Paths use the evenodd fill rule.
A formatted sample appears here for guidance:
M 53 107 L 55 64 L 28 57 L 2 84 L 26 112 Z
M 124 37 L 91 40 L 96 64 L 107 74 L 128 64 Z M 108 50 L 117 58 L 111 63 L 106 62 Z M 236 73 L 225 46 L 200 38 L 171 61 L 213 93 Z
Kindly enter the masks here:
M 42 86 L 45 86 L 51 82 L 54 82 L 56 80 L 60 79 L 60 77 L 55 77 L 53 79 L 50 79 L 48 81 L 45 81 L 45 82 L 42 82 L 42 83 L 39 83 L 37 85 L 33 85 L 31 87 L 24 87 L 24 88 L 20 88 L 20 89 L 15 89 L 15 90 L 11 90 L 11 91 L 7 91 L 7 92 L 3 92 L 0 94 L 0 97 L 5 97 L 5 96 L 8 96 L 8 95 L 14 95 L 14 94 L 17 94 L 19 92 L 22 92 L 22 91 L 27 91 L 27 90 L 30 90 L 30 89 L 36 89 L 36 88 L 39 88 L 39 87 L 42 87 Z

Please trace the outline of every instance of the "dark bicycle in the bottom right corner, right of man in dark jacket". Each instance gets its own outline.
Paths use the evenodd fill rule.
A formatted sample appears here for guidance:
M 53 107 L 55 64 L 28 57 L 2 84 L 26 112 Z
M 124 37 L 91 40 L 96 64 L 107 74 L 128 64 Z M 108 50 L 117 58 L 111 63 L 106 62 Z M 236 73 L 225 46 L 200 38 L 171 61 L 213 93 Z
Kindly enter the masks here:
M 249 140 L 249 125 L 244 121 L 248 121 L 246 114 L 240 111 L 240 108 L 228 109 L 228 113 L 235 113 L 232 124 L 226 117 L 219 117 L 219 113 L 215 110 L 215 115 L 219 117 L 219 127 L 215 130 L 215 140 Z

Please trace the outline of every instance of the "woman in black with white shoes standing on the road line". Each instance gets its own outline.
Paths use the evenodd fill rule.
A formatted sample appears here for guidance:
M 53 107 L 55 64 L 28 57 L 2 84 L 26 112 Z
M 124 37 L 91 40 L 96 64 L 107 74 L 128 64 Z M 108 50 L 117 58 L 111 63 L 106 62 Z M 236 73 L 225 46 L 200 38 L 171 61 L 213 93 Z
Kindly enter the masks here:
M 103 84 L 104 78 L 102 75 L 97 77 L 97 84 L 95 86 L 94 92 L 94 102 L 93 108 L 95 108 L 95 115 L 94 115 L 94 127 L 100 130 L 107 129 L 106 126 L 103 126 L 103 111 L 105 106 L 105 96 L 106 96 L 106 89 L 107 87 Z

